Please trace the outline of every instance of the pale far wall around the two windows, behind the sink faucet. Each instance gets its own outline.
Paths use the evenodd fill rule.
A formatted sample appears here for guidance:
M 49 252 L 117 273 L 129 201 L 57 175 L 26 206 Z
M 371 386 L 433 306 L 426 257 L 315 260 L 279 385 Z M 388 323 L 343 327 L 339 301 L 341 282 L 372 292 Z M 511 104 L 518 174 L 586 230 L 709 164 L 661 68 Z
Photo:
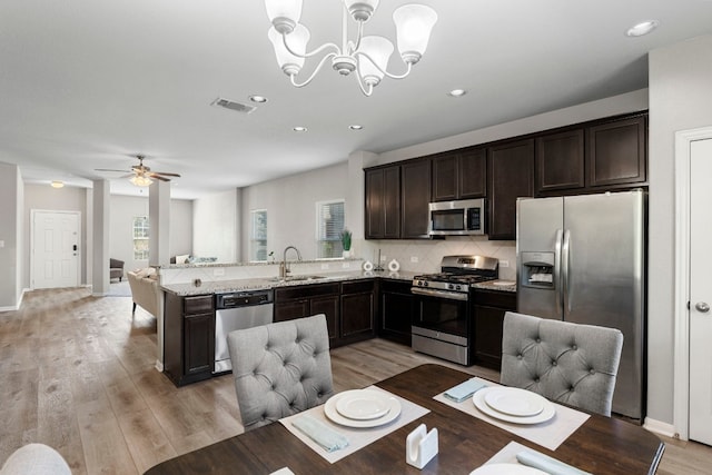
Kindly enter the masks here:
M 267 210 L 267 251 L 281 260 L 287 246 L 296 246 L 304 259 L 316 257 L 316 202 L 346 199 L 348 167 L 344 161 L 243 189 L 241 255 L 249 257 L 250 210 Z M 363 187 L 363 185 L 360 185 Z M 363 202 L 360 205 L 363 207 Z M 345 207 L 345 211 L 348 210 Z M 346 222 L 352 218 L 346 216 Z M 359 217 L 363 221 L 363 215 Z M 294 255 L 289 254 L 289 259 Z

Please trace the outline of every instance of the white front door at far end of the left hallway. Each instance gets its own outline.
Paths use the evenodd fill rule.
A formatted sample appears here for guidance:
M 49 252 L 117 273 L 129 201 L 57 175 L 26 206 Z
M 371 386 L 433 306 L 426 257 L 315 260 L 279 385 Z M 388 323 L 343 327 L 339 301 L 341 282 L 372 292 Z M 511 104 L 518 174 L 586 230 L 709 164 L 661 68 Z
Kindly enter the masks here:
M 32 288 L 79 285 L 79 214 L 32 210 Z

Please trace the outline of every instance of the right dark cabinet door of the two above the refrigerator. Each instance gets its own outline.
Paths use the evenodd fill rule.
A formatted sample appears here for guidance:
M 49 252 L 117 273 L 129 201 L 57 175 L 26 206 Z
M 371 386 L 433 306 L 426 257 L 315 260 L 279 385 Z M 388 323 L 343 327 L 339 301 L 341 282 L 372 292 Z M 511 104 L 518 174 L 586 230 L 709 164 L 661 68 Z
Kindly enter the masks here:
M 645 117 L 590 127 L 589 186 L 641 184 L 647 180 Z

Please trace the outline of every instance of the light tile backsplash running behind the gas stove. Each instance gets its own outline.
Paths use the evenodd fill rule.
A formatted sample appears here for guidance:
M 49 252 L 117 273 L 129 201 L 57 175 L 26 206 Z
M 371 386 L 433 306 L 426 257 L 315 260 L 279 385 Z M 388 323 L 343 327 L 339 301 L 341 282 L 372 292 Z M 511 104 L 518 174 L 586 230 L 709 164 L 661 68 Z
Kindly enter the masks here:
M 392 259 L 396 259 L 402 270 L 438 273 L 443 256 L 478 255 L 500 259 L 501 279 L 516 278 L 516 241 L 513 240 L 487 240 L 486 236 L 448 236 L 433 240 L 355 239 L 353 244 L 354 255 L 374 265 L 378 260 L 379 249 L 384 268 L 387 268 Z

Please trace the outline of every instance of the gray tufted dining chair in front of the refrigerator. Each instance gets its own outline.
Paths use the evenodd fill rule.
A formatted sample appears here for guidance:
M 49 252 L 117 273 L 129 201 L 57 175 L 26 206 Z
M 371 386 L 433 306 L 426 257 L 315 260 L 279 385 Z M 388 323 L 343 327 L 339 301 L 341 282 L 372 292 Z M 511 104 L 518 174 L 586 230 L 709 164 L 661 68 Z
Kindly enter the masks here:
M 507 311 L 500 382 L 610 416 L 622 348 L 615 328 Z

